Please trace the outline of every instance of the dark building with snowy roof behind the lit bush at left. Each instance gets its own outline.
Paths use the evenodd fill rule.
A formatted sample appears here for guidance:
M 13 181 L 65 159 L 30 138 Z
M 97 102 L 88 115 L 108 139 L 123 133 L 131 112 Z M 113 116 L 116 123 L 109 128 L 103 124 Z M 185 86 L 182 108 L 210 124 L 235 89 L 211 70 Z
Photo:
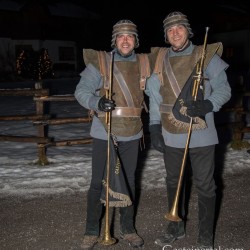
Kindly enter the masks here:
M 78 75 L 82 48 L 92 39 L 87 27 L 98 19 L 70 1 L 0 1 L 0 81 L 15 80 L 23 50 L 47 49 L 55 78 Z

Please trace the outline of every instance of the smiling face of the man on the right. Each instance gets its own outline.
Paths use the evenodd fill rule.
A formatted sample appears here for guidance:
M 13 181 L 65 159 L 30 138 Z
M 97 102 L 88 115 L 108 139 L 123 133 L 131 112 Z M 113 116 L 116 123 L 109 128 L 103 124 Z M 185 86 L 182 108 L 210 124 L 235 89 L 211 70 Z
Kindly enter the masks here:
M 188 30 L 182 24 L 173 25 L 166 31 L 168 42 L 173 50 L 182 50 L 188 43 Z

